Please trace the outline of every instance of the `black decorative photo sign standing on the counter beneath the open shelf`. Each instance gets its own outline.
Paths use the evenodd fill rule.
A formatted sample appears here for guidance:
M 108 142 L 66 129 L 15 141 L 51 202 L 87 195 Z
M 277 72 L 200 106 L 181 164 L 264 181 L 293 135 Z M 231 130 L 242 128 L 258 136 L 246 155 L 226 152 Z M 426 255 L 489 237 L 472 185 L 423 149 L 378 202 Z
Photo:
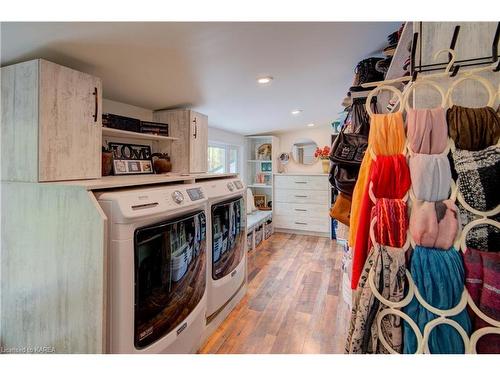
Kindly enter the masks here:
M 150 146 L 115 142 L 108 145 L 113 152 L 115 175 L 153 173 Z

